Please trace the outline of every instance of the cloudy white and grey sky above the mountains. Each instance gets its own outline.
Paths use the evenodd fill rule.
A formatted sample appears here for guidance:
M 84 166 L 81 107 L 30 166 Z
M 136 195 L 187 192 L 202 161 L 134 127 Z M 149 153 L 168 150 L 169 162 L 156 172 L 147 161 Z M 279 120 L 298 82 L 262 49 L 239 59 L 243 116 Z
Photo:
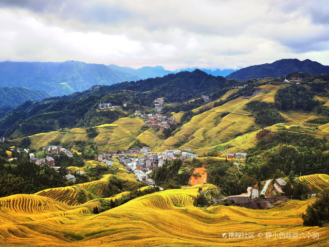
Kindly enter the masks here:
M 0 61 L 329 65 L 326 0 L 0 0 Z

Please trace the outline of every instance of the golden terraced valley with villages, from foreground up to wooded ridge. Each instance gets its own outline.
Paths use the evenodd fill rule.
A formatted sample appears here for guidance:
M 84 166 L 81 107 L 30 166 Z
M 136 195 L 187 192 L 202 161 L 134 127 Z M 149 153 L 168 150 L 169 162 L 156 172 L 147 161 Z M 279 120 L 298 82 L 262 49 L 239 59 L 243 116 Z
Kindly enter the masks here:
M 182 73 L 167 78 L 172 82 L 180 76 L 206 75 Z M 179 100 L 178 92 L 165 90 L 167 82 L 159 82 L 159 87 L 149 87 L 152 83 L 148 81 L 130 85 L 150 89 L 146 93 L 95 87 L 80 98 L 72 95 L 65 100 L 22 104 L 17 107 L 17 112 L 26 107 L 22 119 L 13 117 L 15 110 L 0 119 L 0 125 L 11 125 L 10 131 L 4 132 L 11 138 L 0 143 L 6 153 L 1 162 L 7 173 L 22 166 L 28 152 L 37 153 L 47 145 L 61 145 L 81 158 L 75 161 L 78 165 L 56 158 L 79 182 L 63 180 L 66 186 L 48 185 L 32 193 L 20 191 L 25 191 L 25 182 L 38 177 L 31 174 L 29 181 L 24 175 L 15 177 L 14 172 L 2 173 L 4 181 L 20 181 L 16 192 L 7 186 L 8 195 L 0 198 L 2 246 L 326 246 L 327 227 L 304 225 L 302 218 L 308 206 L 318 200 L 310 195 L 321 197 L 329 188 L 325 174 L 329 170 L 326 87 L 322 92 L 311 92 L 312 81 L 297 86 L 278 78 L 248 83 L 222 80 L 218 83 L 224 84 L 212 94 L 197 91 L 195 84 L 191 87 L 195 93 Z M 233 85 L 227 86 L 229 82 Z M 160 97 L 156 92 L 163 93 L 161 97 L 168 102 L 161 113 L 152 108 L 154 99 Z M 298 101 L 300 107 L 293 109 L 285 107 L 290 104 L 284 101 L 285 94 L 306 96 Z M 210 95 L 211 101 L 201 95 Z M 120 107 L 99 109 L 100 101 Z M 315 107 L 308 109 L 303 102 Z M 63 113 L 70 109 L 72 122 Z M 152 123 L 147 125 L 143 114 L 173 117 L 175 121 L 160 130 Z M 58 130 L 24 135 L 40 124 L 35 119 Z M 144 148 L 147 153 L 141 152 Z M 227 155 L 238 152 L 247 153 L 247 157 Z M 137 168 L 147 172 L 137 174 Z M 42 169 L 47 172 L 48 168 L 40 167 L 36 174 L 42 175 Z M 266 183 L 281 181 L 278 179 L 286 186 L 276 189 L 278 182 Z M 272 202 L 265 209 L 225 201 L 229 196 L 245 200 L 247 188 L 250 195 L 254 190 L 258 195 L 265 184 L 268 186 L 261 196 L 282 194 L 287 199 Z M 261 196 L 252 197 L 263 203 Z

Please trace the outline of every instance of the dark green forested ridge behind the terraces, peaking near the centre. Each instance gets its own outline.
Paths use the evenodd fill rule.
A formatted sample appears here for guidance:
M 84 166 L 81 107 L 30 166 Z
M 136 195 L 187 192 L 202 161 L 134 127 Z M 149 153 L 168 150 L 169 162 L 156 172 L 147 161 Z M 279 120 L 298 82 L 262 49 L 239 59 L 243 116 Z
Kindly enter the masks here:
M 274 103 L 246 104 L 246 110 L 252 112 L 251 116 L 254 117 L 255 123 L 260 126 L 270 126 L 284 121 L 279 112 L 281 110 L 312 110 L 323 104 L 314 100 L 313 95 L 326 97 L 327 77 L 303 75 L 305 86 L 291 85 L 288 89 L 279 86 L 278 89 L 280 87 L 281 89 L 275 91 L 276 96 L 271 96 L 271 101 Z M 216 107 L 239 96 L 252 95 L 257 87 L 266 83 L 281 85 L 281 79 L 249 80 L 248 86 L 244 87 L 242 81 L 221 76 L 214 77 L 196 69 L 193 72 L 180 72 L 136 82 L 122 82 L 108 86 L 95 85 L 84 92 L 50 97 L 36 102 L 26 101 L 17 105 L 7 111 L 6 116 L 0 118 L 0 136 L 20 137 L 62 128 L 93 127 L 112 123 L 120 117 L 134 114 L 136 110 L 154 109 L 154 100 L 160 97 L 165 101 L 165 107 L 162 109 L 164 114 L 184 111 L 181 120 L 189 121 L 196 114 L 207 111 L 207 109 L 198 109 L 189 112 L 205 104 L 205 101 L 200 99 L 202 95 L 217 100 L 232 90 L 227 97 L 214 102 L 211 106 Z M 237 86 L 241 86 L 241 89 L 233 90 Z M 272 86 L 269 87 L 271 88 Z M 100 102 L 112 103 L 119 108 L 99 111 Z M 123 102 L 126 103 L 125 107 Z M 326 109 L 317 108 L 317 111 L 320 110 Z

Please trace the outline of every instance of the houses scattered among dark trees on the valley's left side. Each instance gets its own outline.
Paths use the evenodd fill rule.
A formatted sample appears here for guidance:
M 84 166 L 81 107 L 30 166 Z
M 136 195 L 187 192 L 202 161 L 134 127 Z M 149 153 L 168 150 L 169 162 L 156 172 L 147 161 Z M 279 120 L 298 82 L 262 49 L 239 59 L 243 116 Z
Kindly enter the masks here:
M 66 154 L 68 157 L 73 157 L 73 154 L 67 150 L 66 148 L 63 148 L 61 146 L 47 146 L 47 147 L 43 147 L 42 151 L 49 151 L 49 153 L 47 154 L 47 157 L 45 158 L 38 158 L 35 157 L 34 153 L 30 153 L 30 162 L 35 163 L 38 166 L 44 166 L 47 165 L 49 167 L 52 167 L 54 170 L 59 171 L 59 169 L 61 168 L 60 166 L 55 166 L 55 160 L 53 159 L 54 155 L 59 154 L 60 152 L 63 152 L 64 154 Z M 72 181 L 75 183 L 76 178 L 74 177 L 74 175 L 70 174 L 72 173 L 71 170 L 67 169 L 67 172 L 69 174 L 67 174 L 65 176 L 65 178 L 69 181 Z

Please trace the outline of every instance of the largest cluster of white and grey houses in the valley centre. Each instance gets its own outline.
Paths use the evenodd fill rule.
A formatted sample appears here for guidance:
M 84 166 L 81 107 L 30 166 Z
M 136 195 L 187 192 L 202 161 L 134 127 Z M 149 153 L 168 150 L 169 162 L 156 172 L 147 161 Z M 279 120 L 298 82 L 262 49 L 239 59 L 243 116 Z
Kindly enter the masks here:
M 130 150 L 121 151 L 108 151 L 106 154 L 102 153 L 98 155 L 98 161 L 103 162 L 108 166 L 113 166 L 112 155 L 118 154 L 118 161 L 123 165 L 127 171 L 133 172 L 136 177 L 147 182 L 149 185 L 154 185 L 155 182 L 149 178 L 149 174 L 159 167 L 162 167 L 165 162 L 173 161 L 179 158 L 181 161 L 185 161 L 188 158 L 196 158 L 198 154 L 190 152 L 190 149 L 182 150 L 166 150 L 161 153 L 152 153 L 149 147 L 132 148 Z M 136 157 L 133 154 L 144 154 L 143 156 Z

